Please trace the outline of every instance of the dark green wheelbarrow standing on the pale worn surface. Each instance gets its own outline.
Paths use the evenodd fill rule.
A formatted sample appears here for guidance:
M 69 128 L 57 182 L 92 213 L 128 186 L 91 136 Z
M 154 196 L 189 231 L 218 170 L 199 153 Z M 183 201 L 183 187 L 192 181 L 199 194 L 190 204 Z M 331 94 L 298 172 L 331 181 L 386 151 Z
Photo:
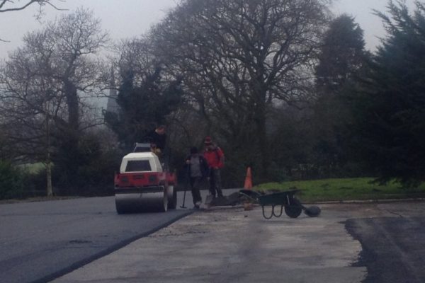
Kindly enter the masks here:
M 280 217 L 282 216 L 283 211 L 285 211 L 285 214 L 290 216 L 290 218 L 297 218 L 300 216 L 302 211 L 304 211 L 304 213 L 310 217 L 319 216 L 319 207 L 305 207 L 301 204 L 300 200 L 297 200 L 297 198 L 294 196 L 296 192 L 298 192 L 298 190 L 286 190 L 283 192 L 274 192 L 271 194 L 261 195 L 259 192 L 252 190 L 240 190 L 239 195 L 247 197 L 250 200 L 260 204 L 261 209 L 263 210 L 263 217 L 265 219 L 271 219 L 273 216 Z M 271 207 L 270 215 L 266 215 L 266 209 L 264 209 L 264 207 Z

